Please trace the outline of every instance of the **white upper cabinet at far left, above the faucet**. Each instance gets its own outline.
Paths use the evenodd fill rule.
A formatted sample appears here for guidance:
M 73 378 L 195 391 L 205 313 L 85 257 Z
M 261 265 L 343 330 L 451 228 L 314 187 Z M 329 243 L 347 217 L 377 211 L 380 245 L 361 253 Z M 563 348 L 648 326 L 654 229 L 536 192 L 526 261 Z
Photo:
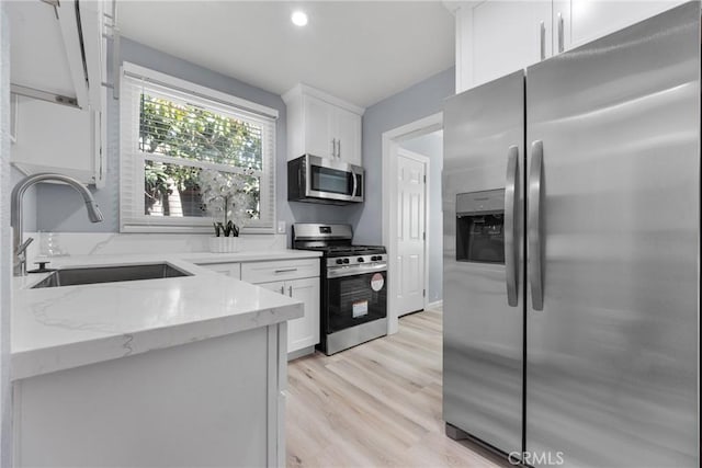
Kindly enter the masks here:
M 104 184 L 103 2 L 10 1 L 10 159 L 24 173 Z

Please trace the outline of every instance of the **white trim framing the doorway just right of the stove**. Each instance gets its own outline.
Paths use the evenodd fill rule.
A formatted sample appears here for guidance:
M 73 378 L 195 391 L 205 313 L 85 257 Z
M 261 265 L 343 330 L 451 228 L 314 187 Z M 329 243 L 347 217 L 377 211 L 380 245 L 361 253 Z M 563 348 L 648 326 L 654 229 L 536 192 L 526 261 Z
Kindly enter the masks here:
M 439 112 L 420 118 L 409 124 L 401 125 L 387 132 L 383 132 L 383 206 L 382 206 L 382 233 L 383 244 L 387 247 L 388 258 L 388 298 L 387 298 L 387 333 L 397 333 L 397 278 L 393 274 L 397 270 L 397 217 L 392 216 L 393 207 L 397 206 L 397 150 L 404 140 L 431 134 L 443 128 L 443 112 Z M 428 213 L 428 210 L 424 210 Z M 424 213 L 424 215 L 427 215 Z M 427 246 L 429 242 L 424 242 Z M 429 275 L 424 275 L 424 288 Z M 426 301 L 426 299 L 424 299 Z

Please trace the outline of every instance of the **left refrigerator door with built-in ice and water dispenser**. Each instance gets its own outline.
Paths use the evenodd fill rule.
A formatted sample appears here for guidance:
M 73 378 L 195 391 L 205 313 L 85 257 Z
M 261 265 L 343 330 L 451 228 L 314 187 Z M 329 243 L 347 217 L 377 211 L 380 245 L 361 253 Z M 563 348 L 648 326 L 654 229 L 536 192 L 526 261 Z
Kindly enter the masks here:
M 506 453 L 522 447 L 523 103 L 519 71 L 444 110 L 443 416 Z

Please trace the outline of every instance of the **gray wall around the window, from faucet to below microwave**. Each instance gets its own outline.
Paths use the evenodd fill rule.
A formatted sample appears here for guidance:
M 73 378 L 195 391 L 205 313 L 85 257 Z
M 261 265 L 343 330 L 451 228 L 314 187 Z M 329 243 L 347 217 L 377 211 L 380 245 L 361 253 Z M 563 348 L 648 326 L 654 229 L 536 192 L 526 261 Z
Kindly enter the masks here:
M 188 80 L 217 91 L 229 93 L 269 107 L 276 109 L 280 117 L 276 124 L 275 201 L 276 218 L 288 224 L 297 221 L 350 222 L 358 218 L 358 206 L 324 206 L 287 202 L 286 183 L 286 121 L 285 104 L 280 95 L 261 90 L 230 77 L 214 72 L 189 61 L 173 57 L 139 43 L 122 39 L 122 60 L 131 61 L 183 80 Z M 107 57 L 107 64 L 112 59 Z M 107 81 L 112 81 L 109 70 Z M 46 231 L 116 232 L 120 230 L 120 109 L 118 102 L 107 99 L 107 176 L 103 190 L 93 191 L 105 220 L 100 224 L 88 221 L 81 198 L 72 189 L 60 185 L 42 184 L 36 194 L 36 227 Z M 290 229 L 290 228 L 288 228 Z M 290 231 L 290 230 L 288 230 Z

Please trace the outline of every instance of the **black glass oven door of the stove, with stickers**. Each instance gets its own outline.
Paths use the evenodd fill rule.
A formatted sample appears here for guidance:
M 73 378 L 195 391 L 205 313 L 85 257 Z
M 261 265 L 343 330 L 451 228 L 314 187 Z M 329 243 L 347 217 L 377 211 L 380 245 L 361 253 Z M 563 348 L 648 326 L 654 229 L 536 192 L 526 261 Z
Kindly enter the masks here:
M 351 267 L 327 271 L 324 287 L 326 310 L 322 310 L 321 320 L 324 333 L 387 317 L 387 266 L 369 265 L 353 270 L 359 273 L 349 274 Z

